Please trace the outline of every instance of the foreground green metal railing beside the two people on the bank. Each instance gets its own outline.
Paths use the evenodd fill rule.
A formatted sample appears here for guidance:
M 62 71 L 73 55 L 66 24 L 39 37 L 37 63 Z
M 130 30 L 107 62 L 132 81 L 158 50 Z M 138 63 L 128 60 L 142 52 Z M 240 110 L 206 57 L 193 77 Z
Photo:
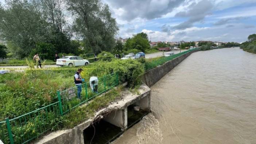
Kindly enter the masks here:
M 57 92 L 58 101 L 43 108 L 26 113 L 13 119 L 5 118 L 0 122 L 0 140 L 4 144 L 24 144 L 49 131 L 55 118 L 63 116 L 71 109 L 82 105 L 92 98 L 106 92 L 118 84 L 118 74 L 113 73 L 98 78 L 98 92 L 93 92 L 90 82 L 82 84 L 81 99 L 77 99 L 77 87 Z

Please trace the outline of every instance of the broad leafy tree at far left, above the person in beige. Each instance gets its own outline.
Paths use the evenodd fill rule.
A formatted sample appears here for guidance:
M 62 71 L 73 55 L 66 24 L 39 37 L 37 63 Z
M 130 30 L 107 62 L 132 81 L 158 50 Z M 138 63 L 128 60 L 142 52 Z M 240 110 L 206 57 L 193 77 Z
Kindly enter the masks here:
M 44 41 L 47 22 L 42 13 L 28 1 L 6 1 L 6 8 L 0 6 L 0 35 L 18 46 L 16 55 L 25 57 L 35 47 L 36 41 Z

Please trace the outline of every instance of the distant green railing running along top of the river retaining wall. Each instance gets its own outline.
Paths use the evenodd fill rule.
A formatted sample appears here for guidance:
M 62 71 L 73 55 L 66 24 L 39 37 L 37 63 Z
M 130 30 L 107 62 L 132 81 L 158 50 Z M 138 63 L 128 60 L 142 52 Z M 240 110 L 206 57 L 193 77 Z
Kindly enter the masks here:
M 177 57 L 179 57 L 179 56 L 181 56 L 183 54 L 186 54 L 186 53 L 188 53 L 190 51 L 194 51 L 194 50 L 197 50 L 197 49 L 183 51 L 183 52 L 180 52 L 178 54 L 171 55 L 169 57 L 163 57 L 163 58 L 157 59 L 157 60 L 152 61 L 152 62 L 146 62 L 145 69 L 146 70 L 150 70 L 150 69 L 152 69 L 152 68 L 154 68 L 156 66 L 162 65 L 162 64 L 164 64 L 164 63 L 166 63 L 168 61 L 171 61 L 174 58 L 177 58 Z

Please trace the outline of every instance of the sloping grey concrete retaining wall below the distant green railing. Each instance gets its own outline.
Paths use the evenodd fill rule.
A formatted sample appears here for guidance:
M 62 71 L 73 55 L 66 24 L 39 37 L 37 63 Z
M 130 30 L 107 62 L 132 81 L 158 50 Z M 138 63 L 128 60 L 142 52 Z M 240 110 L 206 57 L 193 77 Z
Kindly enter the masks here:
M 166 75 L 175 66 L 177 66 L 179 63 L 181 63 L 190 54 L 192 54 L 193 52 L 197 52 L 197 51 L 199 51 L 199 50 L 194 50 L 194 51 L 188 52 L 184 55 L 181 55 L 180 57 L 177 57 L 175 59 L 172 59 L 171 61 L 168 61 L 168 62 L 164 63 L 163 65 L 160 65 L 158 67 L 155 67 L 154 69 L 146 71 L 146 73 L 144 73 L 144 75 L 143 75 L 142 81 L 144 83 L 146 83 L 146 85 L 148 87 L 153 86 L 164 75 Z

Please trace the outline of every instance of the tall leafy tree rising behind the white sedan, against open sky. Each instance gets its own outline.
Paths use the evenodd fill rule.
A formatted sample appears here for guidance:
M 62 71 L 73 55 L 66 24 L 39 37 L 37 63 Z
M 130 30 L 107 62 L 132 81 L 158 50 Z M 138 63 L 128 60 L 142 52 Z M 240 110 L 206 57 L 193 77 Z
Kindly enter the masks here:
M 84 39 L 86 47 L 94 53 L 112 51 L 119 28 L 109 6 L 100 0 L 67 0 L 67 5 L 77 16 L 73 28 Z

